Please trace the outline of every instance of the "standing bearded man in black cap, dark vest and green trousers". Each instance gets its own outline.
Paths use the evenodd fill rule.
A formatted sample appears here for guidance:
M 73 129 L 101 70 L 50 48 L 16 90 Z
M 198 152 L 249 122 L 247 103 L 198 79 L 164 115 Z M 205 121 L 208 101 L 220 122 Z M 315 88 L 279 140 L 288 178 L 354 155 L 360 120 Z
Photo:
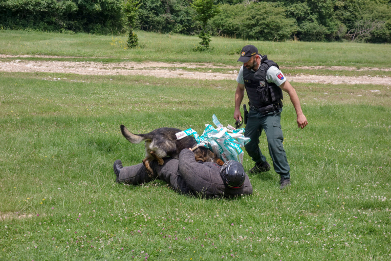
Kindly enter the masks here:
M 234 119 L 241 121 L 240 104 L 244 97 L 244 89 L 246 89 L 250 100 L 250 111 L 244 136 L 251 138 L 251 141 L 244 147 L 248 155 L 255 161 L 255 166 L 248 173 L 254 174 L 270 170 L 270 164 L 258 146 L 261 132 L 265 130 L 270 157 L 274 170 L 281 176 L 280 189 L 283 189 L 290 185 L 290 168 L 282 147 L 281 90 L 288 93 L 292 101 L 299 128 L 303 129 L 308 124 L 307 119 L 303 114 L 295 89 L 285 79 L 277 63 L 267 60 L 266 55 L 259 55 L 258 49 L 254 45 L 244 46 L 238 61 L 243 62 L 243 66 L 240 68 L 237 78 Z

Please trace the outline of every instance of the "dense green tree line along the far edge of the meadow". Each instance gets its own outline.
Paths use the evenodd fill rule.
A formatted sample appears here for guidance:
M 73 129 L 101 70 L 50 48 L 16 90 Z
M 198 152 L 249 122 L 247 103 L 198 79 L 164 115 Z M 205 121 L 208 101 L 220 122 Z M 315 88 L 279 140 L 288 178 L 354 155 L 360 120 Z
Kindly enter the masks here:
M 391 0 L 214 0 L 218 12 L 206 23 L 194 5 L 199 1 L 0 0 L 0 29 L 118 34 L 133 28 L 246 40 L 391 41 Z M 130 6 L 137 6 L 131 26 L 124 12 Z

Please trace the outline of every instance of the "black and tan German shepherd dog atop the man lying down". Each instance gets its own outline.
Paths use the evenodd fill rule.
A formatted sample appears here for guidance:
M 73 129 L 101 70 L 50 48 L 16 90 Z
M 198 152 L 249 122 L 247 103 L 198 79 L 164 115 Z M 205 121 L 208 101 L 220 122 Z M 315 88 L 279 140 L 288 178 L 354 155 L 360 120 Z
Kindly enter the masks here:
M 176 139 L 176 133 L 181 132 L 175 128 L 159 128 L 146 134 L 133 134 L 121 124 L 122 135 L 131 143 L 140 143 L 145 141 L 145 159 L 144 166 L 147 169 L 150 178 L 153 177 L 153 171 L 150 167 L 150 161 L 156 160 L 159 165 L 163 165 L 164 157 L 178 159 L 179 153 L 183 149 L 193 148 L 196 161 L 210 161 L 222 165 L 222 161 L 215 154 L 204 146 L 195 147 L 197 142 L 193 136 L 186 136 L 180 140 Z

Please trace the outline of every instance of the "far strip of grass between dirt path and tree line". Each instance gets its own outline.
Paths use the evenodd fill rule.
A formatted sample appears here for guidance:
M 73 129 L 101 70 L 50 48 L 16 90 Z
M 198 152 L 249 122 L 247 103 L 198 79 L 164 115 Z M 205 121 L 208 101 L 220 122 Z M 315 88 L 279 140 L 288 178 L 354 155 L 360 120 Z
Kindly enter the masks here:
M 344 65 L 390 67 L 391 46 L 351 42 L 266 42 L 212 37 L 207 52 L 193 52 L 196 36 L 162 35 L 139 31 L 142 48 L 124 49 L 126 36 L 65 35 L 0 30 L 0 53 L 54 55 L 89 61 L 167 61 L 238 65 L 241 48 L 254 44 L 282 66 Z M 67 58 L 69 59 L 69 58 Z

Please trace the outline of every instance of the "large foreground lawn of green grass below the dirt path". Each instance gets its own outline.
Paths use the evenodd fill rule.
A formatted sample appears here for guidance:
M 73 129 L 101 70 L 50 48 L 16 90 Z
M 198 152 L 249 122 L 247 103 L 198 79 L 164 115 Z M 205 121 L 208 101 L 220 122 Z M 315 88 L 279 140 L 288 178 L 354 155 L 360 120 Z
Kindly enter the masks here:
M 390 260 L 390 89 L 295 87 L 309 125 L 285 99 L 292 185 L 271 170 L 251 196 L 203 200 L 116 184 L 112 163 L 144 156 L 119 125 L 233 124 L 233 81 L 0 73 L 0 260 Z

